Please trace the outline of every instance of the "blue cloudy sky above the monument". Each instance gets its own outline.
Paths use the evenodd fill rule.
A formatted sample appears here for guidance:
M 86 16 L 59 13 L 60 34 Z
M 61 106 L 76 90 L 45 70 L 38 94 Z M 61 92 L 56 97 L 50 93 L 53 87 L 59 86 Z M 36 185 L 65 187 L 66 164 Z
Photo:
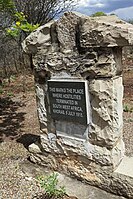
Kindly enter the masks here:
M 79 0 L 76 11 L 91 15 L 102 11 L 114 13 L 121 19 L 133 19 L 133 0 Z

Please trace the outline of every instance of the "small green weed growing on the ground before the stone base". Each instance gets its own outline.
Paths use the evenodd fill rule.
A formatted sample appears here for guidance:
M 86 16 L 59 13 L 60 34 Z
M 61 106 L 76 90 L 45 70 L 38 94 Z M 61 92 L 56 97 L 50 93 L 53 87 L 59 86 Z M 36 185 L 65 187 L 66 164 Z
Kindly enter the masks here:
M 66 194 L 64 187 L 60 187 L 59 189 L 57 188 L 57 177 L 58 174 L 53 173 L 47 177 L 40 176 L 37 178 L 40 182 L 41 187 L 44 188 L 47 197 L 54 197 L 56 199 L 62 198 Z

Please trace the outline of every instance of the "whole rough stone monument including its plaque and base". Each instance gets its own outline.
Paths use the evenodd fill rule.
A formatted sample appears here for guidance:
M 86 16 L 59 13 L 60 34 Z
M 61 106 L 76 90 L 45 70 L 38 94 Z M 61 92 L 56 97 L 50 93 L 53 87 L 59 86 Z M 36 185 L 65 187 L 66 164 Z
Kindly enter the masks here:
M 29 146 L 32 161 L 132 196 L 133 187 L 113 174 L 125 151 L 121 60 L 122 47 L 129 45 L 132 25 L 116 16 L 75 12 L 25 39 L 41 129 L 40 140 Z M 118 191 L 116 184 L 125 188 Z

